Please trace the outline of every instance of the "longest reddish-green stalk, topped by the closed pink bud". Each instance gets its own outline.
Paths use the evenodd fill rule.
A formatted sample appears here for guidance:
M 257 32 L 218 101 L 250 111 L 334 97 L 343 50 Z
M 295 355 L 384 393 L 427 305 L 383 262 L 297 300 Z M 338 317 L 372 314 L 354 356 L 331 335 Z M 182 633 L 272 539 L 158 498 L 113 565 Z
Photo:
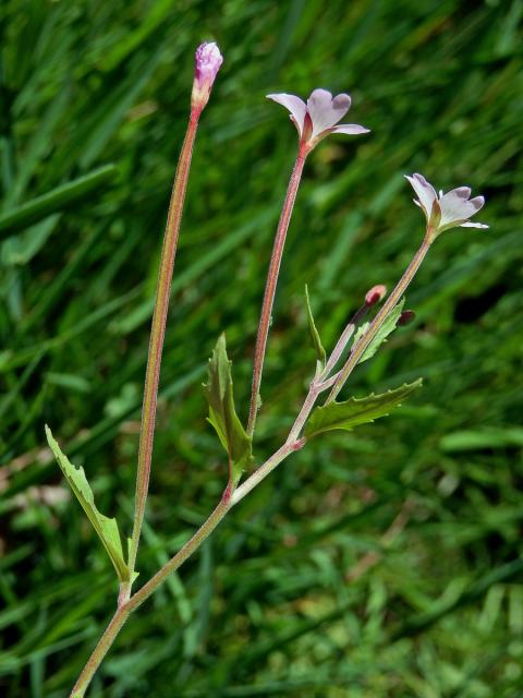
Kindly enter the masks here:
M 138 468 L 136 474 L 136 495 L 134 504 L 134 526 L 129 554 L 129 567 L 131 578 L 136 565 L 139 535 L 144 520 L 147 492 L 149 489 L 150 461 L 153 456 L 153 442 L 155 434 L 156 406 L 158 399 L 158 382 L 160 378 L 161 353 L 166 334 L 167 313 L 171 294 L 172 272 L 177 254 L 180 222 L 182 219 L 185 190 L 187 188 L 188 170 L 193 154 L 194 140 L 198 128 L 200 109 L 193 109 L 187 124 L 187 131 L 183 141 L 180 159 L 178 161 L 174 184 L 172 188 L 169 213 L 167 216 L 166 232 L 161 250 L 160 269 L 156 290 L 156 303 L 150 328 L 149 352 L 147 369 L 145 372 L 144 402 L 142 407 L 142 424 L 139 429 Z M 129 599 L 131 582 L 124 590 L 124 597 Z

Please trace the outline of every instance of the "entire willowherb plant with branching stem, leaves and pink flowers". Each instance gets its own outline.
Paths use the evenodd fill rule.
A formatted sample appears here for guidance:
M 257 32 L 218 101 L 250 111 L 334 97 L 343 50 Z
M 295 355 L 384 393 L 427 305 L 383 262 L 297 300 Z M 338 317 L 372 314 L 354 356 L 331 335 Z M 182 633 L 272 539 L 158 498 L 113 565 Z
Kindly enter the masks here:
M 398 325 L 406 324 L 413 318 L 413 311 L 403 310 L 403 294 L 434 240 L 443 230 L 455 226 L 487 227 L 483 224 L 470 222 L 469 220 L 471 216 L 484 205 L 483 196 L 470 198 L 471 190 L 466 186 L 454 189 L 447 194 L 440 192 L 439 196 L 437 196 L 434 188 L 421 174 L 408 176 L 417 195 L 415 203 L 424 210 L 427 220 L 425 236 L 418 251 L 415 253 L 412 262 L 409 264 L 390 296 L 387 297 L 387 289 L 381 284 L 374 286 L 365 293 L 360 310 L 357 310 L 352 320 L 346 324 L 330 353 L 328 353 L 323 346 L 311 310 L 308 291 L 305 288 L 305 308 L 308 317 L 308 327 L 316 350 L 316 371 L 311 381 L 303 406 L 284 443 L 265 462 L 254 466 L 253 435 L 256 425 L 256 414 L 259 408 L 259 387 L 269 333 L 270 315 L 287 230 L 289 228 L 305 159 L 311 151 L 331 133 L 344 133 L 349 135 L 368 133 L 368 129 L 358 124 L 339 123 L 351 106 L 349 95 L 341 94 L 332 97 L 326 89 L 315 89 L 306 104 L 294 95 L 268 95 L 270 99 L 289 109 L 291 120 L 297 129 L 299 144 L 296 160 L 278 222 L 267 274 L 254 357 L 253 389 L 248 423 L 246 429 L 244 429 L 235 411 L 231 362 L 227 356 L 226 338 L 222 335 L 218 339 L 209 361 L 207 384 L 204 387 L 209 404 L 209 422 L 216 430 L 227 453 L 229 464 L 227 485 L 224 486 L 220 502 L 203 526 L 151 579 L 146 581 L 133 593 L 133 583 L 137 577 L 135 569 L 136 558 L 149 484 L 161 353 L 180 222 L 198 120 L 209 100 L 212 84 L 221 63 L 222 57 L 216 44 L 203 44 L 197 49 L 188 124 L 174 177 L 160 258 L 144 386 L 134 525 L 132 535 L 127 539 L 126 553 L 124 553 L 124 546 L 122 545 L 115 519 L 110 519 L 98 512 L 93 491 L 89 488 L 83 468 L 75 468 L 68 460 L 52 437 L 49 428 L 46 426 L 49 446 L 54 453 L 80 504 L 100 538 L 114 566 L 119 580 L 117 610 L 93 651 L 90 659 L 78 676 L 71 694 L 72 698 L 81 698 L 85 695 L 96 670 L 131 613 L 136 611 L 167 577 L 178 569 L 187 557 L 199 547 L 228 512 L 258 485 L 279 464 L 292 453 L 303 448 L 307 441 L 318 436 L 323 432 L 352 430 L 358 424 L 372 422 L 379 417 L 388 414 L 391 409 L 398 407 L 421 385 L 421 380 L 418 380 L 414 383 L 399 386 L 382 395 L 375 395 L 373 393 L 364 398 L 351 397 L 345 401 L 338 401 L 336 399 L 354 368 L 362 361 L 370 359 Z M 366 321 L 365 318 L 368 313 L 378 306 L 379 309 L 374 318 Z M 352 345 L 348 348 L 351 338 Z M 320 398 L 325 395 L 327 395 L 327 397 L 321 401 Z M 244 473 L 246 473 L 246 479 L 241 482 Z

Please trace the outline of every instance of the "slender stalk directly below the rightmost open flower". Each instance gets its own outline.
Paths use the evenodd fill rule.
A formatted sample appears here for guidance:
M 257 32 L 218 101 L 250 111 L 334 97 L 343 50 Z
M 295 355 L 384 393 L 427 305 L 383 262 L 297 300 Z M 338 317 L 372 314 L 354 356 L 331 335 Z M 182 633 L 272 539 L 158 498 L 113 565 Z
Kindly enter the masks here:
M 352 352 L 351 352 L 349 359 L 346 360 L 344 366 L 341 369 L 340 374 L 339 374 L 335 385 L 332 386 L 332 390 L 330 392 L 329 397 L 326 400 L 326 405 L 328 402 L 331 402 L 336 398 L 338 393 L 341 390 L 341 388 L 345 384 L 346 378 L 350 376 L 350 374 L 352 373 L 354 368 L 357 365 L 357 362 L 360 361 L 360 359 L 362 358 L 363 353 L 365 352 L 365 349 L 368 347 L 370 341 L 376 336 L 378 329 L 380 328 L 381 324 L 386 320 L 387 315 L 390 313 L 390 311 L 392 311 L 394 309 L 394 306 L 400 301 L 401 297 L 403 296 L 403 293 L 408 289 L 409 285 L 411 284 L 412 279 L 414 278 L 417 269 L 419 268 L 419 265 L 422 264 L 423 260 L 425 258 L 425 255 L 427 254 L 428 250 L 430 249 L 431 242 L 433 242 L 433 240 L 431 240 L 431 237 L 430 237 L 430 231 L 427 230 L 427 233 L 425 234 L 425 238 L 423 239 L 423 242 L 422 242 L 418 251 L 416 252 L 416 254 L 412 258 L 411 263 L 406 267 L 406 269 L 405 269 L 403 276 L 401 277 L 401 279 L 398 281 L 394 290 L 391 292 L 391 294 L 388 297 L 388 299 L 385 301 L 385 303 L 379 309 L 379 312 L 377 313 L 376 317 L 370 323 L 367 332 L 362 336 L 360 341 L 352 349 Z

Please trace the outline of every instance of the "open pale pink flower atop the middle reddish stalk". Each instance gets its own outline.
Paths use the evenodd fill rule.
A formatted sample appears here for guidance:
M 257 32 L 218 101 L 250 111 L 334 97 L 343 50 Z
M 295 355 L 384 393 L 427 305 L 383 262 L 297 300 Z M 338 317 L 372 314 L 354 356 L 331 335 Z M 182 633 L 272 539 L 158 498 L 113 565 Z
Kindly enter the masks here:
M 329 133 L 357 135 L 369 132 L 369 129 L 357 123 L 338 123 L 351 108 L 351 98 L 345 94 L 333 97 L 327 89 L 318 88 L 311 94 L 307 104 L 300 97 L 285 93 L 267 95 L 267 98 L 277 101 L 291 112 L 291 121 L 300 134 L 300 144 L 307 152 Z

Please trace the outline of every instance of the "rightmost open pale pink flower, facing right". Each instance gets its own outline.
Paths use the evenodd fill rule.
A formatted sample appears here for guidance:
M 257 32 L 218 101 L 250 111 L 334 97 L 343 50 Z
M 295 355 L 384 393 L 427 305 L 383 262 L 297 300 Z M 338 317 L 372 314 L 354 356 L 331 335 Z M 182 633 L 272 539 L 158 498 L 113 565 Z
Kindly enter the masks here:
M 430 229 L 433 239 L 443 230 L 450 228 L 488 228 L 483 222 L 471 222 L 474 216 L 485 204 L 484 196 L 470 198 L 469 186 L 458 186 L 447 194 L 439 190 L 439 196 L 434 186 L 422 174 L 405 174 L 412 188 L 417 194 L 414 203 L 422 208 L 427 219 L 427 230 Z

